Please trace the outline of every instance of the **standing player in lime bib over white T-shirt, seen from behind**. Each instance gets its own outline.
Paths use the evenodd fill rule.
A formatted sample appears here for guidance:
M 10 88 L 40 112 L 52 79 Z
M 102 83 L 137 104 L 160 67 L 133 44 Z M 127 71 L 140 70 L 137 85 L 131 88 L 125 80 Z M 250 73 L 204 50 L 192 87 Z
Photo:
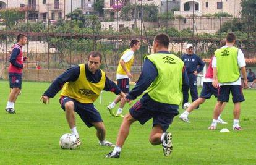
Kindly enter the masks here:
M 239 125 L 239 116 L 241 111 L 240 103 L 244 101 L 242 94 L 241 75 L 244 77 L 244 87 L 247 88 L 246 64 L 244 54 L 241 49 L 233 46 L 236 43 L 234 33 L 228 33 L 226 36 L 226 46 L 215 51 L 213 57 L 213 86 L 218 88 L 218 102 L 213 112 L 213 122 L 208 129 L 215 130 L 218 123 L 218 116 L 221 113 L 220 107 L 224 102 L 229 101 L 230 92 L 234 103 L 234 121 L 233 130 L 242 130 Z

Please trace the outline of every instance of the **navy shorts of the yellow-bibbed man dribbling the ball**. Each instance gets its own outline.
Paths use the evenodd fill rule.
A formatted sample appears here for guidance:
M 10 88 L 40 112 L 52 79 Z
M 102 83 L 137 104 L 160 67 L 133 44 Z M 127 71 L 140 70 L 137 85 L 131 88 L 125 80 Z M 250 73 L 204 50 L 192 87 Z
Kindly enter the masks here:
M 62 96 L 59 99 L 59 103 L 61 104 L 61 108 L 65 111 L 65 103 L 67 101 L 73 101 L 74 103 L 74 111 L 79 114 L 82 121 L 87 125 L 87 127 L 92 127 L 93 122 L 102 122 L 100 113 L 97 111 L 93 103 L 79 103 L 75 101 L 75 99 L 69 98 L 67 96 Z

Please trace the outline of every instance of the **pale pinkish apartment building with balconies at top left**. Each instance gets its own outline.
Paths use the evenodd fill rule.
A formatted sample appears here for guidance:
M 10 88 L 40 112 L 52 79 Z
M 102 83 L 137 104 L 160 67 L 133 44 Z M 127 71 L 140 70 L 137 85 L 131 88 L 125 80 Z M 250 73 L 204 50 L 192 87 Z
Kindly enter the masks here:
M 95 0 L 0 0 L 0 9 L 24 8 L 28 11 L 29 20 L 43 20 L 51 22 L 64 19 L 65 15 L 75 9 L 82 9 L 85 14 L 93 12 Z

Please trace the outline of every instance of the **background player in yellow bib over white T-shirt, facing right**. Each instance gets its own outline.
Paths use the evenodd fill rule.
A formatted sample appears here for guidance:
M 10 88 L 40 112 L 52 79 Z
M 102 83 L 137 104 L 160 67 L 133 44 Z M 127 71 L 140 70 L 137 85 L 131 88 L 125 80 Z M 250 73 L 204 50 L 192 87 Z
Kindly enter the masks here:
M 132 64 L 134 63 L 134 53 L 139 49 L 140 49 L 139 40 L 130 41 L 130 49 L 126 49 L 126 51 L 122 53 L 121 59 L 119 61 L 117 71 L 116 71 L 117 86 L 124 93 L 128 93 L 130 90 L 129 78 L 132 78 L 132 74 L 130 74 L 130 70 L 132 69 Z M 115 114 L 113 111 L 113 108 L 114 106 L 116 106 L 116 104 L 119 101 L 121 102 Z M 124 117 L 124 115 L 122 115 L 122 108 L 124 108 L 124 104 L 126 104 L 126 101 L 124 99 L 121 99 L 121 96 L 117 96 L 116 99 L 114 99 L 114 101 L 107 106 L 107 109 L 112 116 Z

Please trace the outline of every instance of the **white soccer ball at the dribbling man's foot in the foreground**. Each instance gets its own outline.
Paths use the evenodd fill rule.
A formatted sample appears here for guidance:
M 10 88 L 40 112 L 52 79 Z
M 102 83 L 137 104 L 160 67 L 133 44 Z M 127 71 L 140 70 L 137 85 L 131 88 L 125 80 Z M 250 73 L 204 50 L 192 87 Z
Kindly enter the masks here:
M 61 139 L 59 140 L 59 146 L 61 146 L 62 149 L 74 150 L 77 148 L 77 137 L 70 133 L 66 133 L 62 135 Z

